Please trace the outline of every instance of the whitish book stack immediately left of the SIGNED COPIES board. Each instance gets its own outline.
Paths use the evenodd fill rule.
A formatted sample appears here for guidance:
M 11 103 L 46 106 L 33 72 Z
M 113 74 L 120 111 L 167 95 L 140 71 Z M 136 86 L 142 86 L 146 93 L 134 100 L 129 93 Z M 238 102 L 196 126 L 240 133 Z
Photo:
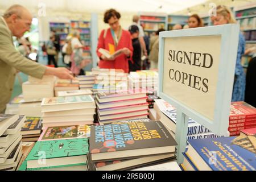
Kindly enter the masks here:
M 155 71 L 130 72 L 128 80 L 129 89 L 143 89 L 150 92 L 158 89 L 158 72 Z

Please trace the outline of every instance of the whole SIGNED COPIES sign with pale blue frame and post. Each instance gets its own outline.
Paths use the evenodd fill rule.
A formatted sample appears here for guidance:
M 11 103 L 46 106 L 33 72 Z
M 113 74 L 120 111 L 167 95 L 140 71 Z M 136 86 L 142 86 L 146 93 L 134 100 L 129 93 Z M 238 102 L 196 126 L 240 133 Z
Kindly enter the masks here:
M 214 134 L 228 136 L 239 32 L 238 24 L 160 32 L 158 94 L 177 109 L 175 138 L 179 164 L 183 163 L 187 143 L 188 118 Z M 184 52 L 184 56 L 177 56 L 177 52 Z M 195 53 L 194 63 L 188 61 L 189 53 L 190 58 Z M 208 57 L 201 58 L 200 63 L 201 55 Z M 206 63 L 206 59 L 211 60 Z M 190 76 L 187 85 L 188 77 L 183 77 L 181 84 L 181 75 Z M 199 87 L 203 78 L 207 81 Z M 193 79 L 195 83 L 191 86 Z

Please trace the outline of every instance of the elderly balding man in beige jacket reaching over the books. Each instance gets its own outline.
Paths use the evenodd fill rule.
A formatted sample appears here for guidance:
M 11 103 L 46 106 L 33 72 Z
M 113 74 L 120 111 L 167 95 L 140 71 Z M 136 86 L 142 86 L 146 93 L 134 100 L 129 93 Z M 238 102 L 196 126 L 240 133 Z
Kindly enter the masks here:
M 21 38 L 30 30 L 32 15 L 20 5 L 11 6 L 0 16 L 0 114 L 5 112 L 6 104 L 13 92 L 16 69 L 27 75 L 42 78 L 55 75 L 63 79 L 73 79 L 66 68 L 50 68 L 28 60 L 16 51 L 13 36 Z

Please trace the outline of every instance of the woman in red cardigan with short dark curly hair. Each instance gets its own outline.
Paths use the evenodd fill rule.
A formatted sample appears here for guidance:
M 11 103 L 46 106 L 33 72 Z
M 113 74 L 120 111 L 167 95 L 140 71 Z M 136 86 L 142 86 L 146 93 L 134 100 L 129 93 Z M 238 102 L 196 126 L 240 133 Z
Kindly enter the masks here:
M 121 15 L 114 9 L 107 10 L 104 14 L 104 22 L 108 23 L 110 28 L 102 30 L 98 38 L 97 55 L 100 57 L 100 68 L 123 69 L 129 72 L 128 60 L 133 56 L 133 44 L 131 43 L 131 35 L 129 31 L 123 30 L 119 25 Z M 103 48 L 110 50 L 109 44 L 114 46 L 114 51 L 122 49 L 122 53 L 115 59 L 108 59 L 102 55 L 98 49 Z

